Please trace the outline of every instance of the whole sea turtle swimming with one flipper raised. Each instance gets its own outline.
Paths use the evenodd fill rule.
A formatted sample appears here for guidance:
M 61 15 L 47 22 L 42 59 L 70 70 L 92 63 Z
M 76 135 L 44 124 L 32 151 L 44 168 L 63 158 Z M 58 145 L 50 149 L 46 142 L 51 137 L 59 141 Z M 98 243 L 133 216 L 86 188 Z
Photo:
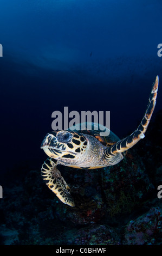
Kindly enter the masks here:
M 64 166 L 97 169 L 119 163 L 126 151 L 145 137 L 147 126 L 154 111 L 159 78 L 156 77 L 144 118 L 131 135 L 119 139 L 113 132 L 109 136 L 100 136 L 99 131 L 52 131 L 43 139 L 41 148 L 49 156 L 42 165 L 42 176 L 47 186 L 64 203 L 75 206 L 70 188 L 64 181 L 57 164 Z M 94 124 L 96 125 L 96 124 Z

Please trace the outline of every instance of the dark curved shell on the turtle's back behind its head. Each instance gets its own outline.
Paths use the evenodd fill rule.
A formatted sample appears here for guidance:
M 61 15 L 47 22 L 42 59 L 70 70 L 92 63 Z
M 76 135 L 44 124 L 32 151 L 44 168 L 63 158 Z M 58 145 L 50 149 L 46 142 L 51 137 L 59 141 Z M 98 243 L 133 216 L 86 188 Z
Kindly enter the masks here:
M 104 146 L 111 146 L 120 141 L 120 138 L 107 129 L 107 127 L 97 123 L 80 123 L 69 127 L 68 130 L 91 135 L 98 139 Z

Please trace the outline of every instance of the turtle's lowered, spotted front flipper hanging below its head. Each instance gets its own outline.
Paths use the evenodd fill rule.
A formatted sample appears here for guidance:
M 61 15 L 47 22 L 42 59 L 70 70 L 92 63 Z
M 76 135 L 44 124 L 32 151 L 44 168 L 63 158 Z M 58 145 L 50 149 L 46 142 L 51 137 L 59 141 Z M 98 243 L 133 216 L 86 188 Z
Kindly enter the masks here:
M 74 200 L 70 195 L 70 188 L 64 181 L 60 171 L 56 168 L 53 159 L 47 159 L 41 168 L 43 180 L 46 181 L 47 186 L 64 204 L 75 206 Z

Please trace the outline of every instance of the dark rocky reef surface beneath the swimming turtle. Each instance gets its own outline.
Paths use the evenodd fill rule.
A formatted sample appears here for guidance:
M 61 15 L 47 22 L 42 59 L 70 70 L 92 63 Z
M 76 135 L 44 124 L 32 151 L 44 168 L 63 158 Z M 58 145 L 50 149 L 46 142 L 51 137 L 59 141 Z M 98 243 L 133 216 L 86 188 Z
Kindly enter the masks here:
M 45 185 L 42 163 L 37 170 L 15 170 L 0 200 L 1 245 L 162 245 L 161 133 L 159 111 L 145 139 L 116 166 L 59 166 L 74 208 Z

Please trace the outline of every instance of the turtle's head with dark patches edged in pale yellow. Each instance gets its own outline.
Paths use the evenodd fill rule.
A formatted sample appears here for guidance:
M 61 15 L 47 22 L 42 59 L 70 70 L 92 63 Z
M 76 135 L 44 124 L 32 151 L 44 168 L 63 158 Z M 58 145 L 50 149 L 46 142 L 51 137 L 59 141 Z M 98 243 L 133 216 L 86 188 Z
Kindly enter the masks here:
M 41 149 L 54 159 L 75 159 L 83 154 L 87 147 L 87 139 L 73 131 L 53 131 L 44 137 Z

